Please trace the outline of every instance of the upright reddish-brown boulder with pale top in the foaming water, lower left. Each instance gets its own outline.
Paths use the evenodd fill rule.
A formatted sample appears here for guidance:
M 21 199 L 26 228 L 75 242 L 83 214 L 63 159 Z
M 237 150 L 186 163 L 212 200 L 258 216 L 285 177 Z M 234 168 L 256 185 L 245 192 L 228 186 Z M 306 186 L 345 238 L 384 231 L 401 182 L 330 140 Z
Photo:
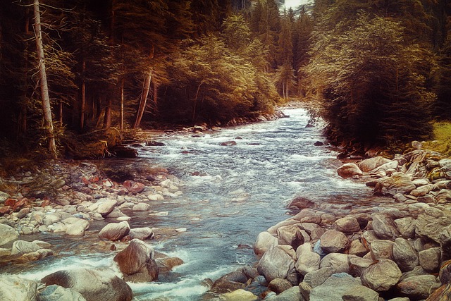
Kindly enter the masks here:
M 155 251 L 142 240 L 133 239 L 130 245 L 114 257 L 125 281 L 151 282 L 158 279 L 159 268 L 154 260 Z

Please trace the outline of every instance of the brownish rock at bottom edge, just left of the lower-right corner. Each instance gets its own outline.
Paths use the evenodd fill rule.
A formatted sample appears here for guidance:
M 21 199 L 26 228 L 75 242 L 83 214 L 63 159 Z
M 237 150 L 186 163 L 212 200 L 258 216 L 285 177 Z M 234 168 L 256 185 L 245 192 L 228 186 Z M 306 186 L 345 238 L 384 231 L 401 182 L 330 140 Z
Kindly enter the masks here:
M 435 276 L 421 275 L 405 278 L 400 283 L 397 283 L 397 290 L 404 296 L 411 300 L 426 299 L 431 288 L 437 285 Z

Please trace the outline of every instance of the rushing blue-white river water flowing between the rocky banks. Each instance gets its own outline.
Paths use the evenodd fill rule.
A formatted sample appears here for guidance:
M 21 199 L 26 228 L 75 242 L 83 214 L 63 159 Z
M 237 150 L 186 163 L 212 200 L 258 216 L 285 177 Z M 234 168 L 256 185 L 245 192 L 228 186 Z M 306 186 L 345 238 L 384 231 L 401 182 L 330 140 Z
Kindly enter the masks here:
M 216 278 L 257 260 L 252 244 L 258 233 L 287 219 L 286 205 L 297 196 L 319 204 L 349 204 L 371 195 L 362 183 L 336 174 L 337 153 L 326 146 L 320 127 L 306 127 L 304 109 L 286 109 L 289 118 L 227 128 L 218 132 L 162 134 L 164 147 L 142 147 L 140 162 L 168 168 L 180 178 L 183 195 L 155 205 L 167 216 L 138 216 L 133 227 L 186 228 L 168 240 L 150 242 L 156 250 L 180 257 L 185 264 L 155 283 L 130 283 L 135 300 L 201 300 L 205 278 Z M 222 142 L 236 145 L 223 146 Z M 338 205 L 337 205 L 338 206 Z M 55 242 L 52 242 L 55 243 Z M 78 241 L 61 238 L 61 245 Z M 20 271 L 39 279 L 70 266 L 114 266 L 113 254 L 70 253 L 46 259 Z M 51 257 L 52 258 L 52 257 Z M 17 272 L 17 271 L 16 271 Z

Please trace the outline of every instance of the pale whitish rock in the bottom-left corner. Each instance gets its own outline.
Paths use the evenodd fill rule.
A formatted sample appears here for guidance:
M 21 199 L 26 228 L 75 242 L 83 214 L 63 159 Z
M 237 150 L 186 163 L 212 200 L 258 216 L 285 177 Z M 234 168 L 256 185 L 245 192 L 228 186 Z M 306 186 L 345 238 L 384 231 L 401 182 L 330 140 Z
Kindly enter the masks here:
M 37 283 L 13 275 L 0 275 L 1 301 L 35 301 Z

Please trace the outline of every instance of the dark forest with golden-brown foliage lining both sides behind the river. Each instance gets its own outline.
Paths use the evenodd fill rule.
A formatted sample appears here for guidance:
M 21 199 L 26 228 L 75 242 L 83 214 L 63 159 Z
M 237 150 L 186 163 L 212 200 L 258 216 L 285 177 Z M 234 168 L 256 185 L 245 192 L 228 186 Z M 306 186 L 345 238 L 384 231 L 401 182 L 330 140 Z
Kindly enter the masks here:
M 68 156 L 111 128 L 225 125 L 287 99 L 341 145 L 427 139 L 451 119 L 450 30 L 447 0 L 0 1 L 0 149 Z

